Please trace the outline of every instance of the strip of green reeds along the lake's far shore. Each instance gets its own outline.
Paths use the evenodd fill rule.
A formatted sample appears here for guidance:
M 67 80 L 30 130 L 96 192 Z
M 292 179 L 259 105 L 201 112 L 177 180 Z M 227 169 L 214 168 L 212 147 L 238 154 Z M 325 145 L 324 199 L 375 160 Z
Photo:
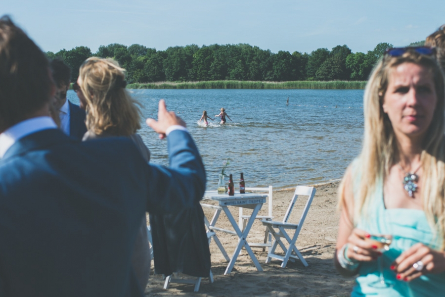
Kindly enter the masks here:
M 364 89 L 365 81 L 293 81 L 293 82 L 256 82 L 256 81 L 202 81 L 202 82 L 156 82 L 134 83 L 128 89 L 321 89 L 352 90 Z

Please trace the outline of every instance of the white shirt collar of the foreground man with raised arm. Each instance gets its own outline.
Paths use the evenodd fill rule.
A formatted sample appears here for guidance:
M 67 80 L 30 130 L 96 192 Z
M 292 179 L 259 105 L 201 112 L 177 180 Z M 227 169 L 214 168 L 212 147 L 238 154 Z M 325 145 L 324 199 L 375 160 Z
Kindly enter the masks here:
M 57 129 L 57 125 L 49 116 L 31 118 L 9 127 L 0 134 L 0 158 L 19 139 L 29 134 L 52 128 Z

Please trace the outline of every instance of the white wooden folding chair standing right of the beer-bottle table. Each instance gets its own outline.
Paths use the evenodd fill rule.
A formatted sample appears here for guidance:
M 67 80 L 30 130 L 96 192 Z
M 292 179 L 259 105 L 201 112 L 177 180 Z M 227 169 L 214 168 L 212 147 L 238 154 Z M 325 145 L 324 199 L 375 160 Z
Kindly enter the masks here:
M 282 222 L 270 221 L 267 219 L 262 220 L 263 225 L 267 227 L 267 230 L 270 232 L 270 234 L 272 234 L 272 236 L 275 239 L 272 247 L 270 248 L 267 254 L 266 263 L 269 263 L 271 258 L 275 258 L 282 261 L 281 267 L 286 267 L 289 258 L 294 258 L 294 259 L 300 259 L 303 265 L 308 266 L 308 263 L 303 258 L 298 248 L 295 247 L 295 242 L 297 241 L 298 235 L 300 234 L 301 227 L 303 226 L 303 223 L 305 221 L 309 207 L 311 206 L 314 195 L 315 195 L 314 187 L 298 186 L 295 189 L 294 197 L 292 197 L 292 200 L 289 204 L 289 207 L 287 208 L 286 214 L 284 215 L 284 219 Z M 287 221 L 289 220 L 289 216 L 299 196 L 308 196 L 308 200 L 301 214 L 300 221 L 298 222 L 298 224 L 288 223 Z M 278 231 L 275 231 L 274 228 L 277 228 Z M 294 234 L 291 235 L 292 238 L 286 233 L 286 229 L 294 230 Z M 286 246 L 283 244 L 281 238 L 286 239 L 287 243 L 289 244 L 288 248 L 286 248 Z M 280 245 L 280 247 L 283 249 L 284 256 L 275 253 L 275 249 L 278 245 Z

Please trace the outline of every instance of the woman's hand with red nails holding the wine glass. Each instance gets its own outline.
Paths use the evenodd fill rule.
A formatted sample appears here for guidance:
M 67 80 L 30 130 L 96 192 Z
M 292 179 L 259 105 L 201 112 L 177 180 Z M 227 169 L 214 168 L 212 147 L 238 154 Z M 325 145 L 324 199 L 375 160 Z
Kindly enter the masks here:
M 381 256 L 382 253 L 377 250 L 377 246 L 372 242 L 366 241 L 369 237 L 371 236 L 366 231 L 354 228 L 348 237 L 346 256 L 351 260 L 363 262 L 374 261 Z

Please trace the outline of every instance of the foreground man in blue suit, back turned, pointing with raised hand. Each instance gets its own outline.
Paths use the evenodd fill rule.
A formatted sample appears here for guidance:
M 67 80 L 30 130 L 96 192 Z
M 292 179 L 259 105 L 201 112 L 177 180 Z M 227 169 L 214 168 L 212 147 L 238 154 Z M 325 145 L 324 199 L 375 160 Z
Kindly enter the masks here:
M 159 103 L 170 167 L 133 142 L 80 142 L 49 117 L 45 54 L 0 18 L 0 296 L 143 296 L 130 264 L 141 217 L 193 207 L 205 172 L 184 123 Z M 67 157 L 69 156 L 69 157 Z

